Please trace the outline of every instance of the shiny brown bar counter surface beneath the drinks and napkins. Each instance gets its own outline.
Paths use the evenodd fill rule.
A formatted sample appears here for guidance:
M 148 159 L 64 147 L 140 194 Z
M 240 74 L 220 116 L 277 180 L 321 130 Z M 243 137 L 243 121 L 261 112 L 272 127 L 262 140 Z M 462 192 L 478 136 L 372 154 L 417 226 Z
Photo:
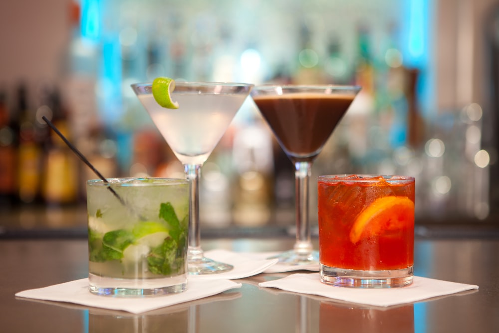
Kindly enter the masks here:
M 458 229 L 453 229 L 459 230 Z M 495 230 L 495 228 L 494 228 Z M 497 233 L 417 230 L 415 275 L 476 284 L 478 290 L 402 306 L 378 308 L 294 294 L 258 283 L 289 273 L 236 280 L 224 293 L 134 315 L 69 303 L 16 298 L 21 290 L 84 278 L 84 237 L 0 239 L 1 332 L 499 332 Z M 206 235 L 206 234 L 205 234 Z M 276 251 L 292 247 L 285 235 L 202 240 L 205 250 Z M 314 238 L 317 248 L 317 239 Z

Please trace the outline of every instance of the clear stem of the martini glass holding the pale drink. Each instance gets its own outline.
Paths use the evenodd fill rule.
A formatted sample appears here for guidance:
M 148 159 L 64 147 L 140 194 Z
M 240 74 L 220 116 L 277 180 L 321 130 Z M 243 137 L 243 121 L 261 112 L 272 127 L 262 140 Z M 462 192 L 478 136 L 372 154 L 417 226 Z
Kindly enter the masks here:
M 201 165 L 185 164 L 184 171 L 189 180 L 189 257 L 202 257 L 201 234 L 199 229 L 199 178 Z

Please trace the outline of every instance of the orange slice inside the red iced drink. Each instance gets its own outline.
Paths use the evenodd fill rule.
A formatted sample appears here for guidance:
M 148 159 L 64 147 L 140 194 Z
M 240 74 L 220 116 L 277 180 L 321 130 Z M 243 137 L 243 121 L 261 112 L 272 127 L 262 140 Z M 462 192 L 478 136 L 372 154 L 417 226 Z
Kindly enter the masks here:
M 350 241 L 377 236 L 385 231 L 402 228 L 414 221 L 414 202 L 408 197 L 389 196 L 376 199 L 357 216 L 350 230 Z

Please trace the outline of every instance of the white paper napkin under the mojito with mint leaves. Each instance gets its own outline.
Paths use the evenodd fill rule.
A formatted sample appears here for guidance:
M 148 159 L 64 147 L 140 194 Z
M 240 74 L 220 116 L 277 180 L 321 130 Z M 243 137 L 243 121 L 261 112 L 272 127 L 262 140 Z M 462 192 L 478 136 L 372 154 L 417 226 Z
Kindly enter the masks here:
M 84 278 L 49 287 L 25 290 L 15 294 L 15 296 L 36 300 L 70 302 L 138 314 L 216 295 L 223 291 L 240 287 L 240 283 L 223 279 L 194 281 L 188 279 L 187 290 L 181 293 L 151 297 L 112 297 L 90 293 L 88 290 L 88 278 Z

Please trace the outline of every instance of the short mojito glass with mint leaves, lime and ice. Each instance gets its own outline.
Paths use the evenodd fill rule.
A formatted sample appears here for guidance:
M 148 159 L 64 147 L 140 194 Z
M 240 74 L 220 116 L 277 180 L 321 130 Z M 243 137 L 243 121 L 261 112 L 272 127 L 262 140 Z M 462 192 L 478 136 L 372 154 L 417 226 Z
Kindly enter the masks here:
M 189 184 L 184 179 L 87 181 L 89 288 L 164 295 L 187 288 Z

